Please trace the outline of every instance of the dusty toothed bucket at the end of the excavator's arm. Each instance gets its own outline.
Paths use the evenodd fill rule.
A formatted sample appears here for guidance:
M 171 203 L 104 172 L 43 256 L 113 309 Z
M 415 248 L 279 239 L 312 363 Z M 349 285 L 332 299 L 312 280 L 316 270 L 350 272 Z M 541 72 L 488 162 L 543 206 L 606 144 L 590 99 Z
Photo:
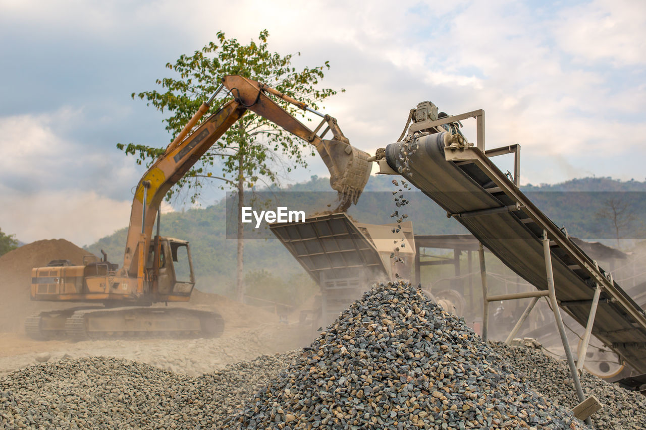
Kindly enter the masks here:
M 345 212 L 352 203 L 357 204 L 368 183 L 372 168 L 368 161 L 370 154 L 340 140 L 322 140 L 317 150 L 328 167 L 329 185 L 339 192 L 339 206 L 335 212 Z

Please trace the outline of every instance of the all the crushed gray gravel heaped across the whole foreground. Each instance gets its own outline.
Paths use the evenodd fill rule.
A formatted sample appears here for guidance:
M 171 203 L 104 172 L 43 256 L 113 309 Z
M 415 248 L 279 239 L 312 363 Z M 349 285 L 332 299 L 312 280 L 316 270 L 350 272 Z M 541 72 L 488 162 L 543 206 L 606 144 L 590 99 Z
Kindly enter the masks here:
M 493 346 L 493 347 L 492 347 Z M 646 400 L 581 378 L 598 429 L 641 429 Z M 3 429 L 585 429 L 565 363 L 485 345 L 410 284 L 379 285 L 302 351 L 189 376 L 122 358 L 0 379 Z

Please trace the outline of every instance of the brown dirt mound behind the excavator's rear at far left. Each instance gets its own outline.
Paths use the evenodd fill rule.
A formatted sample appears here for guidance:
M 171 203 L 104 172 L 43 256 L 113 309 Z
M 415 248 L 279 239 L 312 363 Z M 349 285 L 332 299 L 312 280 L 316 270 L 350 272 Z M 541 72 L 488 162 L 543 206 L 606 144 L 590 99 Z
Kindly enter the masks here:
M 32 269 L 52 260 L 70 260 L 83 264 L 83 256 L 92 255 L 64 239 L 39 240 L 23 245 L 0 257 L 0 332 L 22 332 L 25 318 L 47 309 L 68 307 L 69 303 L 32 302 Z

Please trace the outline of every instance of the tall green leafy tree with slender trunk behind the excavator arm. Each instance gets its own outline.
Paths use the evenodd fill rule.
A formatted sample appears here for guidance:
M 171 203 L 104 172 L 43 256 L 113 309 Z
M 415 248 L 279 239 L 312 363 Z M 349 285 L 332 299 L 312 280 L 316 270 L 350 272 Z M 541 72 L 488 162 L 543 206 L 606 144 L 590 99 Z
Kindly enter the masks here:
M 174 139 L 203 101 L 215 92 L 220 85 L 220 79 L 226 75 L 240 75 L 265 83 L 314 109 L 318 108 L 317 102 L 337 94 L 331 88 L 317 88 L 320 79 L 324 77 L 324 70 L 329 69 L 328 61 L 322 66 L 297 70 L 291 64 L 291 54 L 281 56 L 277 52 L 269 51 L 268 37 L 269 32 L 262 30 L 258 36 L 258 43 L 252 40 L 249 45 L 241 45 L 236 39 L 227 39 L 223 32 L 218 32 L 217 42 L 207 43 L 191 56 L 180 56 L 175 63 L 167 63 L 166 67 L 175 72 L 176 76 L 157 79 L 156 83 L 163 88 L 161 92 L 151 90 L 132 93 L 132 98 L 145 99 L 147 105 L 152 105 L 161 112 L 169 112 L 170 115 L 163 121 L 166 123 L 166 130 Z M 222 103 L 230 99 L 231 95 L 227 94 Z M 286 109 L 293 115 L 298 114 L 297 108 L 291 105 Z M 166 145 L 150 147 L 119 143 L 117 147 L 126 154 L 136 156 L 138 164 L 145 162 L 150 165 L 163 153 Z M 284 172 L 291 172 L 295 167 L 307 167 L 307 154 L 314 154 L 313 147 L 266 119 L 248 113 L 238 120 L 238 123 L 231 127 L 176 185 L 176 190 L 187 190 L 193 202 L 198 200 L 204 181 L 209 179 L 218 179 L 221 189 L 236 190 L 238 300 L 244 297 L 244 230 L 240 208 L 244 205 L 245 190 L 253 189 L 258 181 L 266 185 L 278 182 L 280 168 Z M 167 199 L 171 196 L 172 190 Z

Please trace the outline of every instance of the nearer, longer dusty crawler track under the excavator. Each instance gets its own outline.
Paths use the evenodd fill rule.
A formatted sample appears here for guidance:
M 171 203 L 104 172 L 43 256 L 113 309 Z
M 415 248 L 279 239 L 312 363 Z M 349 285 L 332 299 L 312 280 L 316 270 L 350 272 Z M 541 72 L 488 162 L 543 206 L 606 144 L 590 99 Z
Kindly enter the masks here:
M 65 322 L 73 342 L 109 338 L 216 338 L 224 331 L 217 312 L 172 307 L 121 307 L 74 312 Z

